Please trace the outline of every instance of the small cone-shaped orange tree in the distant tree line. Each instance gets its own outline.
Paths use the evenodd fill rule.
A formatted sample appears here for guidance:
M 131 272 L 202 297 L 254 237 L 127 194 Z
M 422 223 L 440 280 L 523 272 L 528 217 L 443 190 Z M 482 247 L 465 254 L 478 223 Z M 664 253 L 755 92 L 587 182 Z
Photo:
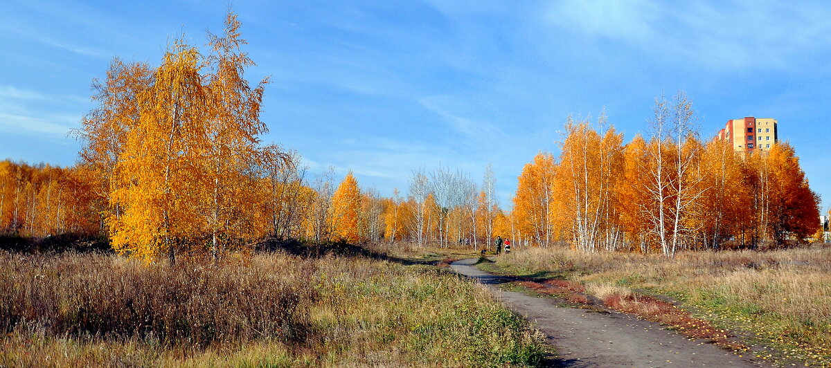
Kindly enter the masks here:
M 352 171 L 332 196 L 332 233 L 336 239 L 355 243 L 361 238 L 361 189 Z

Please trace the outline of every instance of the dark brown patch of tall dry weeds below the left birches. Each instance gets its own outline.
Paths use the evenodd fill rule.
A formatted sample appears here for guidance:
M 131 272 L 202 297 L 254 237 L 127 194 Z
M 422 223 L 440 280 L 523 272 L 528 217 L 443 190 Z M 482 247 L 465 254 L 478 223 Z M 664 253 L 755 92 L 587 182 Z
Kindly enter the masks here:
M 0 253 L 0 329 L 194 346 L 297 339 L 317 297 L 313 271 L 301 260 L 170 268 L 99 254 Z

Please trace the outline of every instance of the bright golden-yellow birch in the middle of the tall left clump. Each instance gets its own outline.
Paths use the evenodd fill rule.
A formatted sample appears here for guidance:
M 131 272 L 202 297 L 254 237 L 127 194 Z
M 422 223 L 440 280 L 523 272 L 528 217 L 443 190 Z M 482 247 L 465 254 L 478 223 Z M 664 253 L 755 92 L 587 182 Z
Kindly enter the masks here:
M 206 149 L 208 91 L 195 47 L 177 41 L 140 91 L 138 124 L 127 133 L 112 201 L 124 213 L 109 218 L 112 247 L 150 262 L 179 248 L 204 228 L 199 214 Z

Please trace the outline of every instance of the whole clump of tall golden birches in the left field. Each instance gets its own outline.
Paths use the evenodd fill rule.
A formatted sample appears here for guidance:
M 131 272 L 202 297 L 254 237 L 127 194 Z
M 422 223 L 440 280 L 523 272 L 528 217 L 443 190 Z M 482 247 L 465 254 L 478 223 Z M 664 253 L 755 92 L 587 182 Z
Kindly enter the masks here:
M 239 22 L 229 13 L 212 53 L 177 40 L 161 65 L 114 63 L 99 107 L 82 122 L 85 163 L 109 189 L 112 247 L 153 262 L 163 254 L 239 250 L 261 236 L 266 188 L 257 167 L 262 81 L 248 86 Z

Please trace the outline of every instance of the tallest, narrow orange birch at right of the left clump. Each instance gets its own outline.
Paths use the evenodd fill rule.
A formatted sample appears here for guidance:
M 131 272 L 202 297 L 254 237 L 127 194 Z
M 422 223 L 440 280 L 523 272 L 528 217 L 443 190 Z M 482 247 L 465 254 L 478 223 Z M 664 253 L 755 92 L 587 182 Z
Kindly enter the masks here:
M 249 242 L 256 233 L 252 216 L 240 209 L 258 200 L 248 168 L 257 164 L 257 158 L 283 158 L 273 147 L 259 153 L 259 135 L 268 131 L 259 119 L 264 85 L 260 81 L 252 88 L 243 77 L 244 69 L 254 62 L 240 47 L 247 44 L 240 37 L 237 15 L 225 18 L 222 37 L 210 35 L 213 54 L 208 57 L 213 73 L 209 75 L 207 106 L 211 108 L 205 124 L 204 137 L 209 142 L 204 152 L 204 174 L 208 187 L 202 194 L 201 212 L 210 228 L 211 256 L 219 258 L 227 248 L 239 241 Z

